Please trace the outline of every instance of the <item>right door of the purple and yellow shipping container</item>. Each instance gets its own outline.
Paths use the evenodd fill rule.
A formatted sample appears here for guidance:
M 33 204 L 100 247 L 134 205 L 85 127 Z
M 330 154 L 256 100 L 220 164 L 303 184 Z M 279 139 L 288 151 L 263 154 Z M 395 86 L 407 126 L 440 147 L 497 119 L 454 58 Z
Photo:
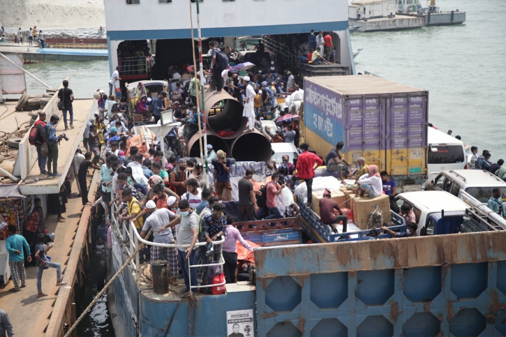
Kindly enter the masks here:
M 386 171 L 405 179 L 426 174 L 427 96 L 391 96 L 386 107 Z

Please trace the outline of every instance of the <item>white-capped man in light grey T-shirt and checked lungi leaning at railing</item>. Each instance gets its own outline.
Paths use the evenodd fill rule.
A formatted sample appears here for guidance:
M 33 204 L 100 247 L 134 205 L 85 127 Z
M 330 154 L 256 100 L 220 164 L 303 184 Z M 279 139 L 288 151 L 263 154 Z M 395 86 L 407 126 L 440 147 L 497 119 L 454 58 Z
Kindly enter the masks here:
M 170 196 L 167 199 L 167 206 L 171 207 L 176 202 L 176 197 Z M 172 211 L 161 208 L 156 209 L 156 204 L 153 200 L 146 203 L 146 210 L 149 216 L 144 221 L 140 237 L 144 239 L 150 228 L 153 228 L 153 242 L 155 244 L 174 244 L 174 237 L 172 230 L 168 227 L 162 232 L 158 232 L 161 227 L 170 223 L 176 217 Z M 169 262 L 169 271 L 172 278 L 172 285 L 177 285 L 177 252 L 175 247 L 160 247 L 151 246 L 151 261 L 167 260 Z

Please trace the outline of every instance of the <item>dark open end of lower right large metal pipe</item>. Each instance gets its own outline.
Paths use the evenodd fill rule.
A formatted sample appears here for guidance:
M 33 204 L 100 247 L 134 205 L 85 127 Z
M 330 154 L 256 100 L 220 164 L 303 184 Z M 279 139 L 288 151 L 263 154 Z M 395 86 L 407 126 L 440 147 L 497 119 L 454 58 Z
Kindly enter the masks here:
M 272 156 L 271 143 L 255 129 L 237 137 L 232 142 L 230 150 L 236 161 L 267 162 Z

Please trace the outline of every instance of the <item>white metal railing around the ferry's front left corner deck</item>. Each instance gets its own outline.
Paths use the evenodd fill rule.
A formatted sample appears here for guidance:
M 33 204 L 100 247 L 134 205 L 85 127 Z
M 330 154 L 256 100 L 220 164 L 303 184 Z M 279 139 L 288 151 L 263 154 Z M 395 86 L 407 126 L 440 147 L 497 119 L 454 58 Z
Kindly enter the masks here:
M 137 232 L 137 229 L 135 228 L 135 225 L 133 224 L 132 221 L 128 221 L 128 225 L 125 225 L 126 221 L 123 221 L 123 222 L 117 221 L 117 218 L 114 216 L 115 210 L 116 210 L 116 204 L 113 203 L 112 207 L 111 207 L 111 214 L 110 214 L 111 225 L 113 225 L 114 228 L 116 229 L 115 232 L 117 232 L 117 235 L 119 236 L 121 241 L 128 242 L 128 248 L 124 249 L 124 253 L 126 253 L 126 255 L 128 255 L 128 257 L 131 257 L 133 255 L 135 250 L 137 250 L 137 247 L 139 246 L 139 244 L 146 244 L 149 246 L 166 247 L 166 248 L 185 248 L 185 250 L 191 246 L 189 244 L 184 244 L 184 245 L 183 244 L 158 244 L 156 242 L 144 240 L 140 237 L 140 234 Z M 225 238 L 223 237 L 223 239 L 221 239 L 219 241 L 212 241 L 212 244 L 213 244 L 213 246 L 216 246 L 219 244 L 223 244 L 224 241 L 225 241 Z M 197 242 L 195 244 L 194 248 L 200 247 L 200 246 L 205 246 L 206 244 L 207 244 L 207 242 Z M 179 251 L 177 253 L 181 254 L 181 251 Z M 189 283 L 190 283 L 190 290 L 194 289 L 194 288 L 217 287 L 220 285 L 225 285 L 226 280 L 223 283 L 216 283 L 216 284 L 212 284 L 212 285 L 191 285 L 191 268 L 223 266 L 223 264 L 225 264 L 225 260 L 223 259 L 223 253 L 220 253 L 220 257 L 218 259 L 219 262 L 217 262 L 217 263 L 191 265 L 189 257 L 187 258 L 187 260 L 188 260 L 188 278 L 189 278 Z M 130 264 L 131 264 L 131 270 L 133 270 L 133 271 L 135 270 L 135 277 L 137 278 L 137 280 L 140 280 L 140 262 L 139 262 L 139 255 L 138 254 L 135 255 L 135 259 L 133 259 L 130 262 Z M 182 266 L 180 266 L 180 267 L 182 267 Z M 171 277 L 176 277 L 176 276 L 171 275 Z

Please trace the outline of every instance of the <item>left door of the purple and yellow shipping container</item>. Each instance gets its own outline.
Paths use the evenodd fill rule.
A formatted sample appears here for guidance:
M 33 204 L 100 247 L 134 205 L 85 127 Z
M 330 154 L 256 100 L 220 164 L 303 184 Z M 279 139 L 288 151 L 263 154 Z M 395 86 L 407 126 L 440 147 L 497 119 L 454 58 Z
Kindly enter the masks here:
M 345 104 L 346 160 L 357 163 L 364 157 L 366 164 L 383 170 L 385 163 L 385 103 L 380 96 L 348 98 Z

